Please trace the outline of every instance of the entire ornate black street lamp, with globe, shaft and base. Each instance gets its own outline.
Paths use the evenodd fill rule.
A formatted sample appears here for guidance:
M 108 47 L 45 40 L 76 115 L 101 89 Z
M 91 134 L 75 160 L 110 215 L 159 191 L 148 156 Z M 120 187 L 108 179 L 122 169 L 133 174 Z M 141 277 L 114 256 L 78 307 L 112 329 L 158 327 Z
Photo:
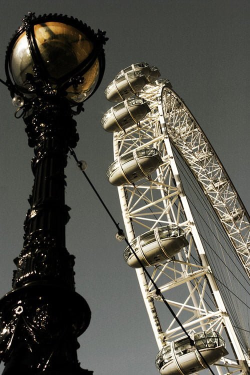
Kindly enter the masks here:
M 0 300 L 4 375 L 92 373 L 76 355 L 90 309 L 75 292 L 74 256 L 65 248 L 64 167 L 78 140 L 72 117 L 103 76 L 104 34 L 72 17 L 29 13 L 7 48 L 5 84 L 35 156 L 24 244 Z

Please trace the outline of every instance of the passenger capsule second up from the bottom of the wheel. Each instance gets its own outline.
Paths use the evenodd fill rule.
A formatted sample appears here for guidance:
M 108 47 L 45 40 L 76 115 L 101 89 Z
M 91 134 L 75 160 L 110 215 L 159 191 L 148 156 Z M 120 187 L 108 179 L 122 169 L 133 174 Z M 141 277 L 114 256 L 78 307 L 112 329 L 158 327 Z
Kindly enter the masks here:
M 124 250 L 123 256 L 130 267 L 140 268 L 163 263 L 171 259 L 188 244 L 185 232 L 178 225 L 156 227 L 134 238 Z M 139 260 L 140 262 L 139 262 Z

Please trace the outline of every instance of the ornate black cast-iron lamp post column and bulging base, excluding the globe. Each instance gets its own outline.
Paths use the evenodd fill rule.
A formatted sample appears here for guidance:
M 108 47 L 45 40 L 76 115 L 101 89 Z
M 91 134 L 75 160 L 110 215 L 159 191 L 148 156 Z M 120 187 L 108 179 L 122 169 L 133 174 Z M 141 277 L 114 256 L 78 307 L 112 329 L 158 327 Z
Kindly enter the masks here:
M 78 140 L 66 103 L 37 99 L 24 116 L 29 145 L 34 147 L 34 185 L 23 249 L 14 259 L 12 291 L 2 299 L 4 308 L 0 309 L 0 356 L 7 374 L 18 370 L 15 362 L 26 374 L 45 370 L 92 373 L 81 369 L 77 361 L 76 337 L 88 326 L 90 310 L 74 292 L 74 256 L 64 240 L 69 219 L 64 167 L 68 147 Z

